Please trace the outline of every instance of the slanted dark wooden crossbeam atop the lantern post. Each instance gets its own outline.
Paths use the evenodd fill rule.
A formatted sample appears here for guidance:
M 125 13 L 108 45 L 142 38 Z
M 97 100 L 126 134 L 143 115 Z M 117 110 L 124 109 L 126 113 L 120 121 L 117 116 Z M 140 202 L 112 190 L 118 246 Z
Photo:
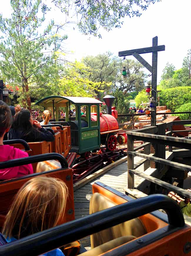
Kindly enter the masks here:
M 158 45 L 158 46 L 151 46 L 151 47 L 145 47 L 145 48 L 140 48 L 140 49 L 121 51 L 121 52 L 119 52 L 118 56 L 123 57 L 123 56 L 133 55 L 134 53 L 138 53 L 138 54 L 153 53 L 156 51 L 159 52 L 159 51 L 164 51 L 164 50 L 165 50 L 165 45 Z

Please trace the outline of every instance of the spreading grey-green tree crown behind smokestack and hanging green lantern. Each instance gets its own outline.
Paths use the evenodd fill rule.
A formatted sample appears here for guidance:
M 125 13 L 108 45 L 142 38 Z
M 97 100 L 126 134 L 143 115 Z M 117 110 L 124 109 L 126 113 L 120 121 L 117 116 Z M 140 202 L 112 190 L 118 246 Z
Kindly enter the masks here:
M 121 91 L 127 96 L 133 91 L 140 91 L 147 81 L 147 74 L 138 61 L 125 60 L 123 65 L 127 67 L 127 76 L 121 74 L 121 59 L 112 56 L 111 53 L 87 56 L 82 62 L 87 66 L 89 74 L 83 74 L 93 82 L 99 83 L 95 93 L 99 100 L 106 94 Z M 87 76 L 88 75 L 88 76 Z

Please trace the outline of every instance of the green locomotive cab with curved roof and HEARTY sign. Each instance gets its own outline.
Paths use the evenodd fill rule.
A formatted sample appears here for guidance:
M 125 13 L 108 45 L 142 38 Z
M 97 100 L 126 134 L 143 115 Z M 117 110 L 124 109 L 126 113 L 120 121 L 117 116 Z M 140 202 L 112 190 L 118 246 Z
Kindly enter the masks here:
M 88 97 L 48 96 L 35 105 L 51 110 L 56 121 L 64 108 L 66 122 L 71 126 L 71 152 L 82 154 L 100 148 L 100 104 L 101 101 Z M 70 114 L 73 109 L 75 117 Z

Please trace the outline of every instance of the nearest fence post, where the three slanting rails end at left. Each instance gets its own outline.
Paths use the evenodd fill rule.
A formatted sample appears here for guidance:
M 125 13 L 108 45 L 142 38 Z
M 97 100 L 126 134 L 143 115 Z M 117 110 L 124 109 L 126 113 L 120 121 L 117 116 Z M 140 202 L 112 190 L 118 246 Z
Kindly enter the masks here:
M 127 150 L 134 150 L 134 138 L 131 135 L 127 136 Z M 127 166 L 128 166 L 128 188 L 134 189 L 134 174 L 129 172 L 129 169 L 134 169 L 134 156 L 127 154 Z

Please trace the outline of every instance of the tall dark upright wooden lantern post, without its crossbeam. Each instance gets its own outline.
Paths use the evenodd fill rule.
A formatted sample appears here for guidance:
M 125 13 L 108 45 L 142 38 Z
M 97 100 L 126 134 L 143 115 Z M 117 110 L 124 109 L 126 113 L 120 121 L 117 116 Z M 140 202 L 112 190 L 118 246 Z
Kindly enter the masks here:
M 153 47 L 158 45 L 158 37 L 153 37 Z M 152 90 L 151 97 L 154 97 L 155 101 L 157 99 L 157 57 L 158 51 L 153 51 L 152 54 Z M 156 104 L 154 111 L 151 111 L 151 126 L 156 125 Z

